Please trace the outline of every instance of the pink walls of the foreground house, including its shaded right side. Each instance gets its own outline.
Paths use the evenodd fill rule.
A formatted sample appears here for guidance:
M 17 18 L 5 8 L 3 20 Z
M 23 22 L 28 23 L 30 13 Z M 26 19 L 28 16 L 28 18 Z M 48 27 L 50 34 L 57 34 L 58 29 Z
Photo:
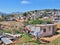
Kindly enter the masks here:
M 43 37 L 43 36 L 51 36 L 51 35 L 55 34 L 55 32 L 57 30 L 56 25 L 40 26 L 40 28 L 41 28 L 40 30 L 43 31 L 43 33 L 41 34 L 41 37 Z M 44 32 L 44 29 L 46 29 L 46 32 Z

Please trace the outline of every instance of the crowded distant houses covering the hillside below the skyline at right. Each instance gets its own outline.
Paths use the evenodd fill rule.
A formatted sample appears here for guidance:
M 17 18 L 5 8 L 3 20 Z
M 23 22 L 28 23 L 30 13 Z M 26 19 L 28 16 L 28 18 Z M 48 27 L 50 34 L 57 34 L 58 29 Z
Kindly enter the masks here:
M 28 13 L 28 15 L 25 17 L 25 16 L 20 16 L 23 18 L 30 18 L 30 20 L 32 19 L 36 19 L 38 17 L 42 16 L 43 18 L 44 17 L 48 17 L 48 18 L 52 18 L 52 20 L 55 20 L 55 21 L 60 21 L 60 11 L 49 11 L 49 12 L 45 12 L 45 11 L 37 11 L 37 12 L 30 12 L 30 14 Z

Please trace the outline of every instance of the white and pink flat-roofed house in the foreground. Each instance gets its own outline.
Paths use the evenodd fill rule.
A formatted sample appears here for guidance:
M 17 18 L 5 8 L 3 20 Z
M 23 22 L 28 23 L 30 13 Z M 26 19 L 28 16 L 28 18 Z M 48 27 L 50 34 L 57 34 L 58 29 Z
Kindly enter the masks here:
M 57 27 L 56 24 L 39 24 L 39 25 L 28 25 L 27 28 L 30 28 L 30 34 L 33 36 L 44 37 L 54 35 Z

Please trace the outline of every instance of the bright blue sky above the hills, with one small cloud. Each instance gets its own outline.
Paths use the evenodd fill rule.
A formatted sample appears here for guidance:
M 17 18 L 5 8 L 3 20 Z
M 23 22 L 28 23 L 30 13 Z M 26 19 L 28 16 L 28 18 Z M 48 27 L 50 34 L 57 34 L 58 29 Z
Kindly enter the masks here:
M 60 9 L 60 0 L 0 0 L 0 11 L 4 13 L 41 9 Z

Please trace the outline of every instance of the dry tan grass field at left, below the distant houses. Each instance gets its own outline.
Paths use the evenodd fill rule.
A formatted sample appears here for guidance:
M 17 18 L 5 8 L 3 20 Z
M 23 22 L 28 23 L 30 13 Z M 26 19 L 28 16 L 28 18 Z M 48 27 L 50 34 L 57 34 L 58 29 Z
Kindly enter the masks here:
M 15 28 L 18 30 L 23 26 L 23 23 L 16 22 L 16 21 L 3 21 L 3 22 L 0 22 L 0 24 L 2 24 L 2 26 L 4 27 L 4 30 L 6 29 L 11 30 L 12 28 Z

